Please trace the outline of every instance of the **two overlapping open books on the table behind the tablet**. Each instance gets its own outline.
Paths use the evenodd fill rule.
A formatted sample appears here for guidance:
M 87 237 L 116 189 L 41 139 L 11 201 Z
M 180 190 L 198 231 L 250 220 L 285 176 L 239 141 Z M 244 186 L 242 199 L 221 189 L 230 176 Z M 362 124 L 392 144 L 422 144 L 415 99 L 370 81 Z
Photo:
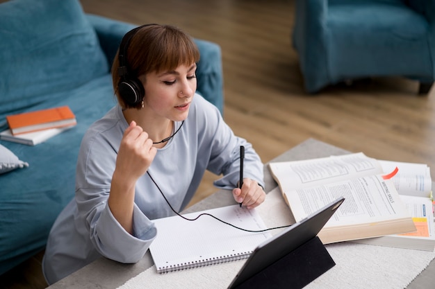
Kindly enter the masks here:
M 345 202 L 320 231 L 323 243 L 434 251 L 432 179 L 426 164 L 384 161 L 362 152 L 269 164 L 296 221 L 339 196 Z

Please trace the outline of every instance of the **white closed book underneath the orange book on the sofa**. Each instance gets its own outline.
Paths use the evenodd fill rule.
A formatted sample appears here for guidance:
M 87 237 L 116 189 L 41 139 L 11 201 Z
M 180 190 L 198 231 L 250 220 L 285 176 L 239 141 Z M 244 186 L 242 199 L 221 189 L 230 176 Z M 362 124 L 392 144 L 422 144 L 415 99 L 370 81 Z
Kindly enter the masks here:
M 60 132 L 69 130 L 69 128 L 71 127 L 49 128 L 47 130 L 39 130 L 38 132 L 27 132 L 25 134 L 17 135 L 13 135 L 10 130 L 4 130 L 3 132 L 0 132 L 0 139 L 2 141 L 12 141 L 13 143 L 22 143 L 27 146 L 35 146 L 38 143 L 47 141 L 47 139 L 50 139 L 57 134 L 60 134 Z

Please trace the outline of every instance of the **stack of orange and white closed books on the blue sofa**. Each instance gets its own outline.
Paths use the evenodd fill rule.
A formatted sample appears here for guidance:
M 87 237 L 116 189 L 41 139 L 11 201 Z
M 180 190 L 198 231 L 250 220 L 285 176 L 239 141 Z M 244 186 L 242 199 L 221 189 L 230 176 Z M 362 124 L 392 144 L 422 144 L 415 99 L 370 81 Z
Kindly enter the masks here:
M 0 139 L 35 146 L 77 124 L 68 106 L 24 112 L 6 116 L 9 129 L 0 132 Z

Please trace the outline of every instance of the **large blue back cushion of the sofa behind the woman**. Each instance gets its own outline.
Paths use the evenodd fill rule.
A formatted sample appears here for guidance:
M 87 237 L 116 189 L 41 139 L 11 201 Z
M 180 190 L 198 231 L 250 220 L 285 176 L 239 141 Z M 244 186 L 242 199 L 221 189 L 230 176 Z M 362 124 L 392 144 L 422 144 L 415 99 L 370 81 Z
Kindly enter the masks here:
M 76 0 L 1 3 L 0 39 L 0 118 L 108 73 Z

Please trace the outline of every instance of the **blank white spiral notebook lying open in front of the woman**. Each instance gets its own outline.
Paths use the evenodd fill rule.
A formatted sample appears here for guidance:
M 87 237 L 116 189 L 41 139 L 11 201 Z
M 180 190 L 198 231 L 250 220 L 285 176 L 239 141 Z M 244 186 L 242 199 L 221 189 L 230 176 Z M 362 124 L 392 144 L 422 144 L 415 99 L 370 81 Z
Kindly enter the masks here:
M 183 216 L 196 218 L 200 213 L 210 213 L 243 229 L 266 228 L 255 209 L 240 208 L 238 204 Z M 149 250 L 159 273 L 246 259 L 259 244 L 272 237 L 268 231 L 242 231 L 206 215 L 195 221 L 172 216 L 153 222 L 157 236 Z

